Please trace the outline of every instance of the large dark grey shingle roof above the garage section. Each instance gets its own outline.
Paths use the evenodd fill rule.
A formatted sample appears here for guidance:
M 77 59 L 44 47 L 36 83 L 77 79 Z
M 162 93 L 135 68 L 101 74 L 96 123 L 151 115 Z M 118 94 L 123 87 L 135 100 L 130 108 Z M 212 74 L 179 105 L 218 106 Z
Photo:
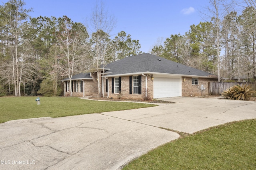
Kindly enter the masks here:
M 213 75 L 208 72 L 185 66 L 183 64 L 179 64 L 149 53 L 120 59 L 113 63 L 107 64 L 106 68 L 110 68 L 110 70 L 106 71 L 106 73 L 108 73 L 106 76 L 137 72 L 157 72 L 193 76 Z

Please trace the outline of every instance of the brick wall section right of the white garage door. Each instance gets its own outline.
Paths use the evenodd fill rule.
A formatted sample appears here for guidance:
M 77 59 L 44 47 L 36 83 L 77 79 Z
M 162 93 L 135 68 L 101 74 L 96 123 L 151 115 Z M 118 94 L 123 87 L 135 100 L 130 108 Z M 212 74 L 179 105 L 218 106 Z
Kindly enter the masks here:
M 183 79 L 186 78 L 184 82 Z M 208 82 L 216 82 L 215 78 L 198 78 L 199 84 L 192 85 L 192 77 L 182 77 L 182 96 L 202 96 L 200 87 L 203 84 L 205 87 L 204 94 L 209 95 Z

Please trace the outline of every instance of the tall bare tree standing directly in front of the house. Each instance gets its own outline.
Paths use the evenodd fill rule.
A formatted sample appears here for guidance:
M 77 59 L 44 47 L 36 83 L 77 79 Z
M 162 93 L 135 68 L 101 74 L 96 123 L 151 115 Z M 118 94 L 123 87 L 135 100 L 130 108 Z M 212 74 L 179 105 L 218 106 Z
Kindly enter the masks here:
M 96 4 L 91 17 L 89 28 L 92 32 L 88 52 L 92 58 L 92 71 L 97 72 L 98 77 L 98 96 L 104 95 L 103 76 L 104 66 L 114 55 L 114 46 L 110 41 L 110 33 L 116 26 L 116 19 L 104 8 L 104 4 Z M 102 86 L 101 86 L 102 84 Z

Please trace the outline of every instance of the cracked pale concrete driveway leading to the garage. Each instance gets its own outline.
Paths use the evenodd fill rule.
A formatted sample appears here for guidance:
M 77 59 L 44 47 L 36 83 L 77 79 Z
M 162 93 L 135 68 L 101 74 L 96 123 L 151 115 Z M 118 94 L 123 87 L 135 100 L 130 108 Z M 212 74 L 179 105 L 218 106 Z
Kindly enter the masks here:
M 118 169 L 179 137 L 230 121 L 256 118 L 256 102 L 165 98 L 176 104 L 0 124 L 0 169 Z

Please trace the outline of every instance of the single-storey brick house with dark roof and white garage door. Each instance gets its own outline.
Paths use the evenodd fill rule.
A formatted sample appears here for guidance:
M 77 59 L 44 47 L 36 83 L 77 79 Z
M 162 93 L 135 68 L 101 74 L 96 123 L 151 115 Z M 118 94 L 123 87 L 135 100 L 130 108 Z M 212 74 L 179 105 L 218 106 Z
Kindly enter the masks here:
M 129 99 L 208 95 L 208 82 L 217 81 L 213 74 L 149 53 L 107 64 L 102 69 L 102 77 L 105 97 Z M 62 81 L 65 96 L 69 96 L 69 79 Z M 73 96 L 98 93 L 95 72 L 72 76 L 71 83 Z

